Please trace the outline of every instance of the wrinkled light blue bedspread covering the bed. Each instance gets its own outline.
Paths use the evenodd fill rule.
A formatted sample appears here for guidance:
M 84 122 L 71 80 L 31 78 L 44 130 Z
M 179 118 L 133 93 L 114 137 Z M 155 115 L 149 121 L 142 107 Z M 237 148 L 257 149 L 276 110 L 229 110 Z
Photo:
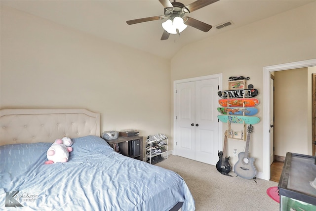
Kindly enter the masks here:
M 97 136 L 72 140 L 69 161 L 50 165 L 51 143 L 1 146 L 0 210 L 168 211 L 179 201 L 195 210 L 177 173 L 122 156 Z

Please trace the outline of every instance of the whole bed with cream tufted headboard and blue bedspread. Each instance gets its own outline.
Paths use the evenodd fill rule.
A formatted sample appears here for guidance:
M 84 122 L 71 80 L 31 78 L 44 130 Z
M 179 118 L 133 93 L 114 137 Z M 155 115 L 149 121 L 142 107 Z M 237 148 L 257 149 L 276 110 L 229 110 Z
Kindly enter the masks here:
M 0 210 L 194 211 L 177 173 L 118 154 L 85 109 L 0 111 Z M 73 140 L 67 163 L 45 165 L 55 139 Z

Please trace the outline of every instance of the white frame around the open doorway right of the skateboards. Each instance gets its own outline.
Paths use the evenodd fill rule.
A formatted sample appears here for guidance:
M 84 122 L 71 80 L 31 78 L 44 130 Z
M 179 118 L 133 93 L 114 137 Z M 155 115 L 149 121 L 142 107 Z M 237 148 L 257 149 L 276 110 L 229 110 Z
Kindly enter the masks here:
M 263 174 L 270 180 L 270 75 L 271 72 L 316 66 L 316 59 L 291 62 L 263 68 Z

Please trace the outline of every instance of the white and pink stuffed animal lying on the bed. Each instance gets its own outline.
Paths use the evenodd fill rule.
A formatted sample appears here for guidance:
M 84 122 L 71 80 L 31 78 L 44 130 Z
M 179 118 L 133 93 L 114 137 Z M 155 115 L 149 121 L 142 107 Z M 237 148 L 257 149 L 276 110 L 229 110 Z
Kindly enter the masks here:
M 45 164 L 66 163 L 69 158 L 69 152 L 73 151 L 71 145 L 73 145 L 73 141 L 68 137 L 56 139 L 47 150 L 48 161 Z

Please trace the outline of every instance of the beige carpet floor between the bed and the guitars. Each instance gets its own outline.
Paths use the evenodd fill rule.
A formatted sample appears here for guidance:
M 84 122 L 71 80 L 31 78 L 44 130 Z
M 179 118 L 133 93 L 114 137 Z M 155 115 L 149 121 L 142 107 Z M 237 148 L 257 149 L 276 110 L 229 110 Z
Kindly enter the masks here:
M 277 182 L 244 179 L 231 171 L 225 176 L 215 166 L 170 155 L 156 166 L 178 173 L 187 183 L 196 211 L 278 211 L 279 204 L 266 191 Z

